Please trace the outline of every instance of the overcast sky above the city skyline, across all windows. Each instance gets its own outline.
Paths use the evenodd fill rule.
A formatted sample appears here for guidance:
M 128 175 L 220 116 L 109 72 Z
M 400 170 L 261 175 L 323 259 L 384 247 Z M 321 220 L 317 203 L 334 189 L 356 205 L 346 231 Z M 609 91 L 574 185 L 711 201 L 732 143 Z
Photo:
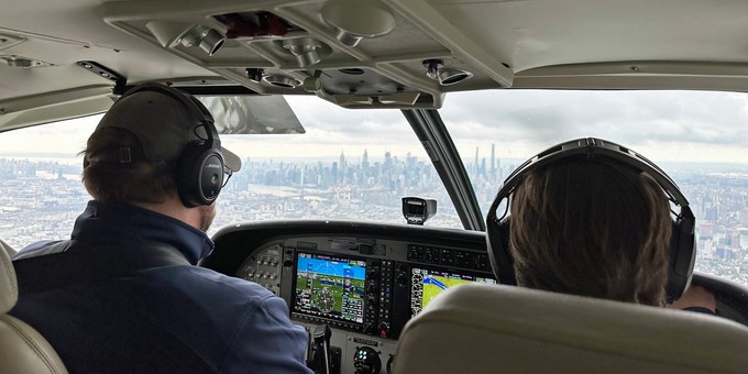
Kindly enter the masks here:
M 370 160 L 426 153 L 398 110 L 342 109 L 287 97 L 305 134 L 226 135 L 250 158 Z M 462 157 L 527 158 L 562 141 L 606 139 L 653 161 L 748 163 L 748 96 L 704 91 L 493 90 L 447 95 L 440 110 Z M 99 116 L 0 133 L 0 156 L 30 150 L 79 152 Z

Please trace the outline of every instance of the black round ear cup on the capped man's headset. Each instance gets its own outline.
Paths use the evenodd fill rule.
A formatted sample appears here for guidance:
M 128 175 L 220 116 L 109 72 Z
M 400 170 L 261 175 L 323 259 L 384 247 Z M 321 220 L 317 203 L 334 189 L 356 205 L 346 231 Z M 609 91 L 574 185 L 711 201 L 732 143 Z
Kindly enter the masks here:
M 212 204 L 223 187 L 223 157 L 210 142 L 185 146 L 177 165 L 177 190 L 186 207 Z

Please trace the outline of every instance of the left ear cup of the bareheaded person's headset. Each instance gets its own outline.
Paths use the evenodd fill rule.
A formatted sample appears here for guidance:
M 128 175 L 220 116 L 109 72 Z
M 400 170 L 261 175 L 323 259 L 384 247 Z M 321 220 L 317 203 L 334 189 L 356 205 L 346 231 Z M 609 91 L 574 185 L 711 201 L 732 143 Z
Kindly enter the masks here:
M 514 271 L 514 258 L 509 251 L 510 218 L 505 217 L 501 221 L 493 220 L 486 230 L 488 231 L 488 258 L 498 283 L 516 286 L 517 276 Z

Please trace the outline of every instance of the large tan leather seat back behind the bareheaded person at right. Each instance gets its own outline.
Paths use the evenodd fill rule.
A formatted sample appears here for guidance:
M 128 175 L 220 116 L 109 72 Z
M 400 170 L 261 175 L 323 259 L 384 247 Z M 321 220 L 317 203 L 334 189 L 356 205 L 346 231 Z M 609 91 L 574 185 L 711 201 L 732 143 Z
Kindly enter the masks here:
M 435 298 L 394 372 L 748 373 L 748 328 L 724 318 L 496 285 Z

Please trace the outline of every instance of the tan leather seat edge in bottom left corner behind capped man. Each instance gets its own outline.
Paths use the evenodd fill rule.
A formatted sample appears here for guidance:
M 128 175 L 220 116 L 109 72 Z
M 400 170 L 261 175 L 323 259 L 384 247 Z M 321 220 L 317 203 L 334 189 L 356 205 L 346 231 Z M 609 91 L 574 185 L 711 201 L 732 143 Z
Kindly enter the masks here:
M 0 241 L 0 373 L 67 373 L 52 345 L 23 321 L 8 315 L 18 300 L 15 272 Z

